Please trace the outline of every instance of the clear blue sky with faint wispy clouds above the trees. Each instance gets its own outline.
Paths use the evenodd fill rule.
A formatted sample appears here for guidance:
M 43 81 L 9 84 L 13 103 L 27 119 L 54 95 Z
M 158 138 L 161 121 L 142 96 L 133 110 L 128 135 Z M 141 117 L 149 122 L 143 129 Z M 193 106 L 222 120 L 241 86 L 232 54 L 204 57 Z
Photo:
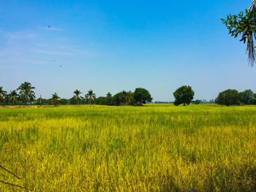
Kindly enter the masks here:
M 9 92 L 28 81 L 37 97 L 67 99 L 75 89 L 105 96 L 146 88 L 154 101 L 173 101 L 181 85 L 195 99 L 256 92 L 256 66 L 220 20 L 250 3 L 1 0 L 0 86 Z

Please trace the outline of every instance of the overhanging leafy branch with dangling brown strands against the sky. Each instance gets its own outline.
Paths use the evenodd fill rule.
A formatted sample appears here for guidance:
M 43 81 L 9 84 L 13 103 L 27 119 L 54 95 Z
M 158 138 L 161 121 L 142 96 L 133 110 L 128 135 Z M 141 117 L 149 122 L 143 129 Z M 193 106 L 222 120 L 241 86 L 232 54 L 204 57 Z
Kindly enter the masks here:
M 255 64 L 256 53 L 255 53 L 255 37 L 256 37 L 256 0 L 252 1 L 249 9 L 244 12 L 240 12 L 238 15 L 227 15 L 227 19 L 222 19 L 229 30 L 229 34 L 232 37 L 238 37 L 241 35 L 241 42 L 247 44 L 246 52 L 248 53 L 248 61 L 251 66 Z

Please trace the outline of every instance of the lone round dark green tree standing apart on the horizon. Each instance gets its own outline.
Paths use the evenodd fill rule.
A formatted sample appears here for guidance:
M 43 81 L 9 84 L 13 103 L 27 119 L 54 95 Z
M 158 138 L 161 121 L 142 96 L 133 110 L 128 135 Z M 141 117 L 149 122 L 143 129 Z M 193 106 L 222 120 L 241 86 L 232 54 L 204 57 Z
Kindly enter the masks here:
M 173 96 L 175 97 L 174 104 L 176 106 L 179 104 L 183 104 L 184 106 L 186 104 L 189 105 L 194 98 L 194 94 L 195 93 L 190 86 L 181 86 L 173 93 Z

